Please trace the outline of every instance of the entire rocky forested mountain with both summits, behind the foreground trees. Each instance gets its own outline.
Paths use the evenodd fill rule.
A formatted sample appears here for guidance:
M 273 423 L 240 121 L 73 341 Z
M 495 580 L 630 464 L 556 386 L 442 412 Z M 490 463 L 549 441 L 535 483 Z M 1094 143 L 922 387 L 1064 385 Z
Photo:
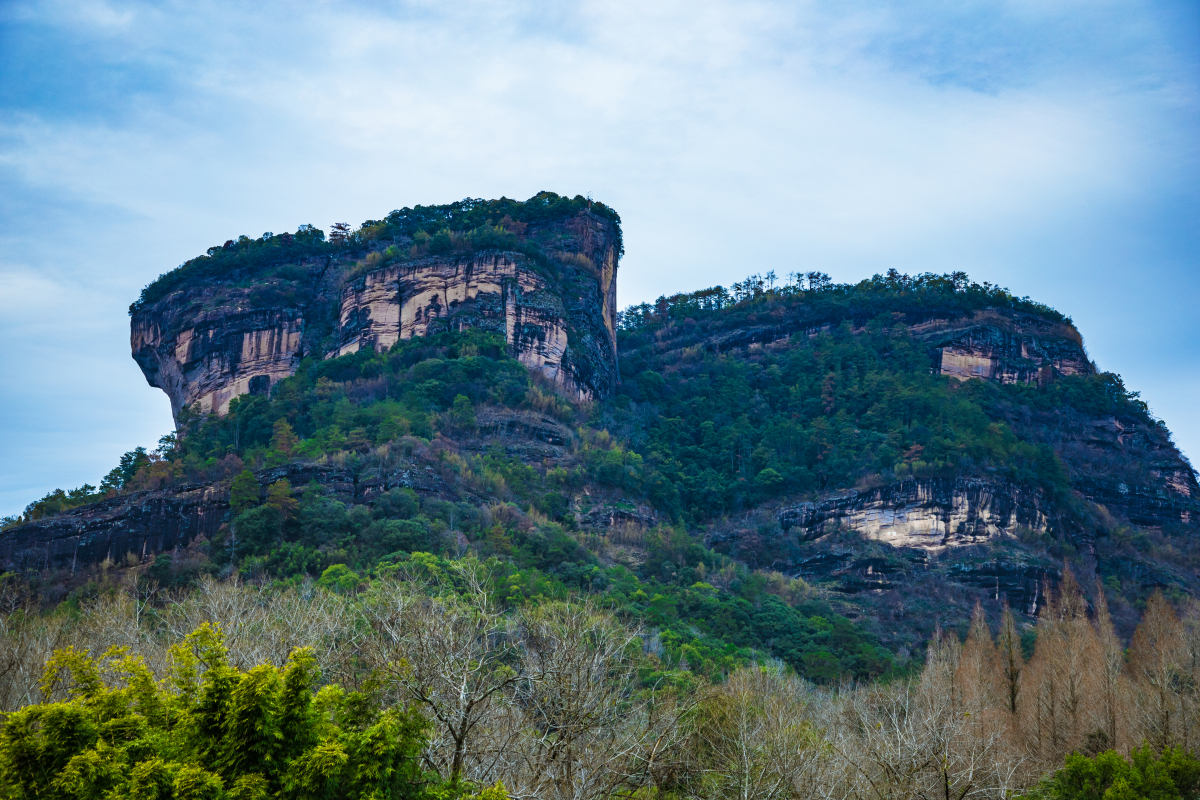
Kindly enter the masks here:
M 622 252 L 616 212 L 545 192 L 210 248 L 131 307 L 176 434 L 31 504 L 0 564 L 53 601 L 97 565 L 475 552 L 505 597 L 598 595 L 698 672 L 815 680 L 905 669 L 977 601 L 1028 624 L 1064 567 L 1126 632 L 1200 588 L 1195 473 L 1063 314 L 894 271 L 618 313 Z

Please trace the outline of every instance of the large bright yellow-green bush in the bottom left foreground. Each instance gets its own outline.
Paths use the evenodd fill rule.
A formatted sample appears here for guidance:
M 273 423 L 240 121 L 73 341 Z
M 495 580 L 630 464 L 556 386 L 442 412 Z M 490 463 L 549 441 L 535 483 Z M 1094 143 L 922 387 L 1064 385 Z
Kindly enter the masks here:
M 336 686 L 314 693 L 307 650 L 242 673 L 205 624 L 173 658 L 158 686 L 124 649 L 55 652 L 43 688 L 64 699 L 0 721 L 0 796 L 437 796 L 419 764 L 425 720 Z

